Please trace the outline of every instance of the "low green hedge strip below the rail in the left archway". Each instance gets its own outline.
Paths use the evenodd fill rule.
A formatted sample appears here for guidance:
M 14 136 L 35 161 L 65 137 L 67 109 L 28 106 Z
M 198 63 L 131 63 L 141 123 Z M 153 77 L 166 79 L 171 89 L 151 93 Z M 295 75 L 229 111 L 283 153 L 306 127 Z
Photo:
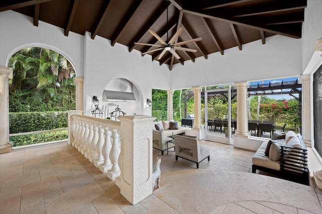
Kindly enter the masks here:
M 66 131 L 45 132 L 40 134 L 27 134 L 10 137 L 10 141 L 13 141 L 13 146 L 24 146 L 36 143 L 51 142 L 56 140 L 64 140 L 68 138 Z

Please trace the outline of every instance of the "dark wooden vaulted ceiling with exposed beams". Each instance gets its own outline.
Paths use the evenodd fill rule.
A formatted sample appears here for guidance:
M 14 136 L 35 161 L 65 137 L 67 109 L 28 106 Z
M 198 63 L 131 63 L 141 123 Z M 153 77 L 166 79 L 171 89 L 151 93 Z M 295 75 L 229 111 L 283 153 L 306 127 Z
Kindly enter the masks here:
M 181 59 L 167 52 L 148 53 L 160 65 L 184 65 L 198 57 L 265 39 L 273 35 L 301 38 L 306 0 L 10 0 L 0 3 L 0 12 L 13 10 L 32 17 L 34 26 L 43 21 L 69 32 L 84 35 L 90 32 L 120 43 L 141 53 L 156 49 L 135 45 L 135 42 L 160 45 L 148 30 L 163 40 L 173 37 L 180 27 L 184 32 L 178 42 L 202 38 L 202 41 L 183 45 L 197 52 L 176 51 Z M 168 24 L 167 24 L 167 7 Z M 41 28 L 41 26 L 39 26 Z

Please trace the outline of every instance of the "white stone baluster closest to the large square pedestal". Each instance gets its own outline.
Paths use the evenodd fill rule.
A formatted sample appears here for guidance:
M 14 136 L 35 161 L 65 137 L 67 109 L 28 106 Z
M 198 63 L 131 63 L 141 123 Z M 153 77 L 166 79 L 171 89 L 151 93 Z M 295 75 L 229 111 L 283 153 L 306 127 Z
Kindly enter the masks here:
M 116 177 L 120 176 L 121 171 L 120 167 L 118 165 L 118 158 L 121 152 L 121 148 L 119 146 L 118 142 L 118 133 L 117 129 L 113 129 L 112 131 L 112 148 L 110 152 L 110 160 L 112 162 L 112 168 L 107 171 L 107 177 L 110 178 L 111 180 L 115 180 Z

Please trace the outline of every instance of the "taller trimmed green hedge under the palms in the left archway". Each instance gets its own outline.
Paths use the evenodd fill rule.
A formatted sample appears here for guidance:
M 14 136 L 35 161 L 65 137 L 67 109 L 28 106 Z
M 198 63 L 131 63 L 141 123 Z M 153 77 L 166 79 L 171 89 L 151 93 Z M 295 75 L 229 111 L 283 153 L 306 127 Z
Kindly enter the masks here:
M 65 111 L 9 113 L 11 134 L 65 127 L 68 127 L 68 117 Z

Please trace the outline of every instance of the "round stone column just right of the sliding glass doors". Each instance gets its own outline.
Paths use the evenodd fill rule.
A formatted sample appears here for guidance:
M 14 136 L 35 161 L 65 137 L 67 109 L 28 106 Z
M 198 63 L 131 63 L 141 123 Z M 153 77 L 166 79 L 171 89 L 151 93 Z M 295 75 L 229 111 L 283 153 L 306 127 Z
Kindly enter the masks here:
M 247 118 L 248 82 L 238 82 L 235 86 L 237 87 L 237 131 L 234 136 L 247 138 L 250 135 Z

